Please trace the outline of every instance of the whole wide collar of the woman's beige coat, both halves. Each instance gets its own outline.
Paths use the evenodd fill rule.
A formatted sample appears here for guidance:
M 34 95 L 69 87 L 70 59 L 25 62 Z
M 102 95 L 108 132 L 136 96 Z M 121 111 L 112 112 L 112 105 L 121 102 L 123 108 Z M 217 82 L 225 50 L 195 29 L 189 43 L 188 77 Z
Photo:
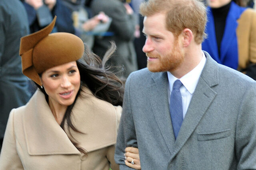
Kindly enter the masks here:
M 72 109 L 72 123 L 84 134 L 71 130 L 72 136 L 87 152 L 115 144 L 119 117 L 115 107 L 83 90 Z M 30 155 L 80 154 L 69 133 L 58 125 L 42 92 L 37 91 L 26 105 L 23 122 Z

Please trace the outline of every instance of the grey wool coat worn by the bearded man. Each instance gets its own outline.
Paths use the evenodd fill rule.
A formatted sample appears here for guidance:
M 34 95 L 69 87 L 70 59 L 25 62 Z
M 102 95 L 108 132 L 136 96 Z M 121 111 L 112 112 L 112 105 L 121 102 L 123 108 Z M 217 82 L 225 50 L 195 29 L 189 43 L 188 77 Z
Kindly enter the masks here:
M 188 111 L 174 138 L 166 72 L 130 74 L 115 160 L 138 146 L 142 170 L 256 170 L 256 82 L 208 53 Z

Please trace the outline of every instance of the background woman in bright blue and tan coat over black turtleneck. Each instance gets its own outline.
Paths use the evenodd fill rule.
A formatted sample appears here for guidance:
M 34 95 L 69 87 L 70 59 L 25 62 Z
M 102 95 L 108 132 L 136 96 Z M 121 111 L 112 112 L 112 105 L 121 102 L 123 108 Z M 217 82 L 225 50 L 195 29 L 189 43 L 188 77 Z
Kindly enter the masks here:
M 202 49 L 218 63 L 256 79 L 256 12 L 232 0 L 208 0 L 208 5 Z

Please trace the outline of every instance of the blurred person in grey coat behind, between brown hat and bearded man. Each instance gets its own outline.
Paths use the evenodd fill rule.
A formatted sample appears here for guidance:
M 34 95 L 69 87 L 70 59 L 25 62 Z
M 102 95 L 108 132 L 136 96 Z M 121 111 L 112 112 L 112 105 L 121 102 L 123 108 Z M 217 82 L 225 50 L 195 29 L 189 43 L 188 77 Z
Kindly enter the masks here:
M 108 34 L 96 36 L 93 52 L 102 56 L 110 47 L 110 41 L 116 43 L 116 52 L 109 63 L 124 67 L 124 77 L 138 69 L 134 49 L 134 31 L 136 17 L 130 5 L 123 0 L 92 0 L 90 8 L 94 14 L 104 12 L 112 18 Z

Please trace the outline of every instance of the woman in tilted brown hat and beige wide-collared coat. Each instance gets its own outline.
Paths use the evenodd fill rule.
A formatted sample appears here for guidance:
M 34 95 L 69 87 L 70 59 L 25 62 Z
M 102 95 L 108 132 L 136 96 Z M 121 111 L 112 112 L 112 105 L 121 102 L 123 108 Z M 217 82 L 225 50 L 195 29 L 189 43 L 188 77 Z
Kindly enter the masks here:
M 49 34 L 55 21 L 21 39 L 22 71 L 39 90 L 10 113 L 0 170 L 119 169 L 114 144 L 122 108 L 113 105 L 122 104 L 122 81 L 104 70 L 105 61 L 80 59 L 80 38 Z

